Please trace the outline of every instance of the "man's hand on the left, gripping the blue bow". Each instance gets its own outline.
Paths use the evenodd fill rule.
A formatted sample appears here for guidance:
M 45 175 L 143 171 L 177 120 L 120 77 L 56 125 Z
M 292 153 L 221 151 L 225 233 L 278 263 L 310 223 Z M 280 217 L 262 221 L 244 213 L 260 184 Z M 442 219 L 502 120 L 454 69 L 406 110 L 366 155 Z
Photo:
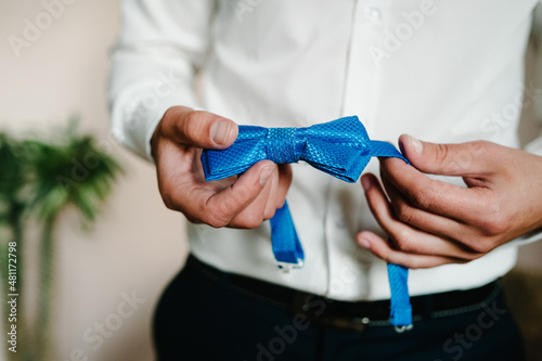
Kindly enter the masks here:
M 262 160 L 238 177 L 205 181 L 202 150 L 227 149 L 237 132 L 234 121 L 211 113 L 173 106 L 164 114 L 151 147 L 168 208 L 212 227 L 250 229 L 273 217 L 292 183 L 289 165 Z

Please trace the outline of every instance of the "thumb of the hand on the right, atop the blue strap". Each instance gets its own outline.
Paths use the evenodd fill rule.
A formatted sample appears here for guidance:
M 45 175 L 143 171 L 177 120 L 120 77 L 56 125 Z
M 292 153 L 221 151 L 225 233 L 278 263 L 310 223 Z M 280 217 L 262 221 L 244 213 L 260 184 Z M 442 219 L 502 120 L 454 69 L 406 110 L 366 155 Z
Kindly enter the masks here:
M 424 142 L 408 134 L 399 137 L 399 147 L 409 162 L 416 169 L 433 175 L 465 176 L 485 171 L 485 144 L 441 144 Z

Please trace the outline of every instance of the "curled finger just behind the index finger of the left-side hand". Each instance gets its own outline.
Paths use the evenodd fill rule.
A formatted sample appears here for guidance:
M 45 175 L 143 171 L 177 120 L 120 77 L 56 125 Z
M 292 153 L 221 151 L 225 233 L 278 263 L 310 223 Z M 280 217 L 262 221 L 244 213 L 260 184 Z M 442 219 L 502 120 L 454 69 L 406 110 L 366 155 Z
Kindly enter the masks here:
M 278 171 L 274 170 L 263 190 L 245 209 L 232 218 L 228 227 L 240 229 L 253 229 L 259 227 L 266 219 L 266 208 L 269 203 L 269 196 L 278 178 Z

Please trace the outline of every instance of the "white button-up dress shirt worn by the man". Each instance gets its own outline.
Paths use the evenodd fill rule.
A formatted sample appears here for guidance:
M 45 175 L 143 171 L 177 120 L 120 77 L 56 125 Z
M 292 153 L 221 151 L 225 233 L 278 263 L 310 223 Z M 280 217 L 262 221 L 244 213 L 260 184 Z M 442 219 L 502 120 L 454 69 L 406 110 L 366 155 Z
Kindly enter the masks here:
M 410 133 L 517 147 L 524 95 L 533 96 L 532 85 L 524 85 L 524 53 L 535 4 L 124 0 L 112 55 L 112 132 L 151 159 L 156 124 L 168 107 L 184 105 L 266 127 L 358 115 L 375 140 Z M 542 142 L 532 144 L 542 155 Z M 385 262 L 354 242 L 361 230 L 384 236 L 359 182 L 305 164 L 293 170 L 287 199 L 306 253 L 302 269 L 276 268 L 269 222 L 255 230 L 190 224 L 191 252 L 224 271 L 335 299 L 389 298 Z M 378 173 L 378 162 L 366 171 Z M 514 266 L 518 242 L 538 237 L 533 232 L 466 265 L 413 270 L 411 294 L 488 283 Z

